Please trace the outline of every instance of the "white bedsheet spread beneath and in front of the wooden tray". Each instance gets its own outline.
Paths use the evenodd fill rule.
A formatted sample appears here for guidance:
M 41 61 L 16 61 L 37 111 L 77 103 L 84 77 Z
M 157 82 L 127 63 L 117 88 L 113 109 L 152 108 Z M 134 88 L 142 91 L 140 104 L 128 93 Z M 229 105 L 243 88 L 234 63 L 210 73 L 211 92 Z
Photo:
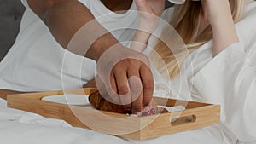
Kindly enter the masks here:
M 0 99 L 1 144 L 230 144 L 230 139 L 218 125 L 161 136 L 148 141 L 133 141 L 93 130 L 73 128 L 66 122 L 50 119 L 6 107 Z

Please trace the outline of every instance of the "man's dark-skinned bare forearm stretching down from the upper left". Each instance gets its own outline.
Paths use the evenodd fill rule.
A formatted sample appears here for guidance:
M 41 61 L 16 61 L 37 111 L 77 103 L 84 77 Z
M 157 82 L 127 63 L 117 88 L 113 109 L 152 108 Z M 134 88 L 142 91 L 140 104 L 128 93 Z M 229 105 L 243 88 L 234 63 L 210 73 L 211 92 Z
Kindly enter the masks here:
M 90 10 L 77 0 L 27 0 L 27 2 L 33 12 L 38 14 L 49 27 L 55 40 L 65 49 L 75 33 L 82 26 L 95 19 Z M 118 41 L 96 21 L 93 27 L 91 31 L 95 29 L 96 32 L 105 34 L 91 44 L 85 56 L 98 60 L 105 49 L 108 49 L 114 43 L 118 43 Z M 68 50 L 75 51 L 75 49 Z

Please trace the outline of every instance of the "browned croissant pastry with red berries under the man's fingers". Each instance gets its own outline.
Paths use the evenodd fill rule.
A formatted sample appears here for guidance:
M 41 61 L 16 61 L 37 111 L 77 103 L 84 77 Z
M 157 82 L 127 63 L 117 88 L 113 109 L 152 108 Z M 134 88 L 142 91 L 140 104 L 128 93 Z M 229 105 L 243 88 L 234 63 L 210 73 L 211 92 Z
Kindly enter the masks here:
M 102 95 L 99 93 L 99 91 L 96 91 L 95 93 L 90 94 L 89 96 L 90 104 L 95 107 L 97 110 L 102 111 L 108 111 L 108 112 L 117 112 L 117 113 L 124 113 L 124 114 L 131 114 L 131 112 L 125 111 L 125 108 L 122 105 L 113 104 L 112 102 L 109 102 L 105 100 Z M 150 106 L 150 108 L 144 108 L 143 112 L 140 112 L 137 115 L 139 116 L 146 116 L 146 115 L 152 115 L 157 113 L 163 113 L 168 112 L 165 108 L 157 107 L 155 102 Z M 145 109 L 148 109 L 145 111 Z

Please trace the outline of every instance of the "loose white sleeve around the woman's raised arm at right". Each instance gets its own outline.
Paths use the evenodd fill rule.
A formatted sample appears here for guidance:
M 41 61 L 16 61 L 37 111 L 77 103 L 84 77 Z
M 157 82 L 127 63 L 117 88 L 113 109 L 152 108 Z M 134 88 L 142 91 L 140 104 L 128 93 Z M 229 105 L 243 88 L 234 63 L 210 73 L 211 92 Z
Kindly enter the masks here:
M 240 141 L 256 140 L 256 71 L 235 43 L 195 74 L 193 84 L 207 101 L 221 105 L 221 121 Z

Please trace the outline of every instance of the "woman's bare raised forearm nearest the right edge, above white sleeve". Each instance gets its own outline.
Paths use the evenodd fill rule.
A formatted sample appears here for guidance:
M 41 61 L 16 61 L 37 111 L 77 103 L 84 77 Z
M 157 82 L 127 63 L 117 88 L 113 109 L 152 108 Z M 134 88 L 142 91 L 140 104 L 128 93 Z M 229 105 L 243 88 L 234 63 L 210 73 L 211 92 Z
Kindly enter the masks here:
M 204 16 L 213 32 L 213 56 L 218 55 L 230 44 L 238 43 L 236 28 L 231 14 L 229 0 L 202 0 Z

